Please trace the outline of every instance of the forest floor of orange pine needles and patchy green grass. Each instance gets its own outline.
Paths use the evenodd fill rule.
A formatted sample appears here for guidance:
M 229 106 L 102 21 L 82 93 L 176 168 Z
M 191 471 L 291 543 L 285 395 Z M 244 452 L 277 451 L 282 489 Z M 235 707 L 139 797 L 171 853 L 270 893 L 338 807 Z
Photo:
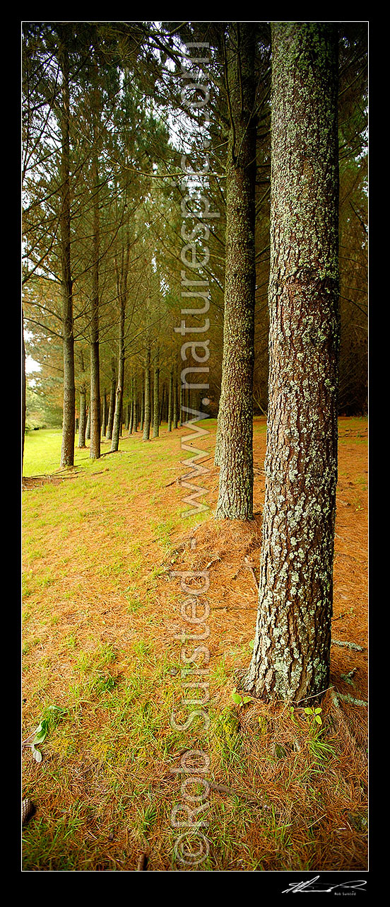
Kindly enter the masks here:
M 39 476 L 45 466 L 29 457 L 45 433 L 27 435 L 23 739 L 42 722 L 44 739 L 40 762 L 22 749 L 22 795 L 34 805 L 24 871 L 367 868 L 367 421 L 339 420 L 330 686 L 320 704 L 293 710 L 235 692 L 256 620 L 265 419 L 254 420 L 248 523 L 214 521 L 216 424 L 203 426 L 195 447 L 206 472 L 195 484 L 208 509 L 189 518 L 188 428 L 163 425 L 148 444 L 124 437 L 113 454 L 103 441 L 100 460 L 77 451 L 73 469 Z M 183 704 L 195 690 L 182 673 L 180 571 L 188 583 L 195 571 L 209 580 L 208 727 Z M 305 707 L 321 709 L 321 725 Z M 203 754 L 197 764 L 191 750 Z M 185 770 L 199 786 L 184 783 Z M 202 855 L 182 863 L 180 835 L 201 805 Z M 188 834 L 181 840 L 188 848 Z

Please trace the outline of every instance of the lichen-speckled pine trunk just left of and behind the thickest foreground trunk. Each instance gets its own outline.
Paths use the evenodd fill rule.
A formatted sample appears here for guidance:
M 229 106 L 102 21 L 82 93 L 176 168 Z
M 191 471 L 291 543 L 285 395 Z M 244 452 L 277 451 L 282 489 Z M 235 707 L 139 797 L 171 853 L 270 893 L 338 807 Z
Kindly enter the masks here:
M 250 520 L 253 511 L 254 49 L 254 24 L 230 23 L 226 50 L 231 126 L 226 165 L 224 357 L 215 512 L 217 517 L 230 520 Z

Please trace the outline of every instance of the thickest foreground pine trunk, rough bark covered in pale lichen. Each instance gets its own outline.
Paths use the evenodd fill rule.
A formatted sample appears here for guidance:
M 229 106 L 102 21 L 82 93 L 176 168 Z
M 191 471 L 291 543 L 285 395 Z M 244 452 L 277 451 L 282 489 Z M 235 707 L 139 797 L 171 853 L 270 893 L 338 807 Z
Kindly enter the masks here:
M 335 24 L 272 24 L 271 111 L 266 487 L 259 612 L 243 686 L 299 701 L 329 681 L 338 472 Z

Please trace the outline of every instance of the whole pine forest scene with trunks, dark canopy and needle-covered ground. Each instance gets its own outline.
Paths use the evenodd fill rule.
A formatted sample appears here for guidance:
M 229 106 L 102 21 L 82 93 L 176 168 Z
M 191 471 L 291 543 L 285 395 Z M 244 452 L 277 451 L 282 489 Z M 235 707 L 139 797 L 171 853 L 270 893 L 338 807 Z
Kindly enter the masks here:
M 21 23 L 22 872 L 368 876 L 368 23 Z

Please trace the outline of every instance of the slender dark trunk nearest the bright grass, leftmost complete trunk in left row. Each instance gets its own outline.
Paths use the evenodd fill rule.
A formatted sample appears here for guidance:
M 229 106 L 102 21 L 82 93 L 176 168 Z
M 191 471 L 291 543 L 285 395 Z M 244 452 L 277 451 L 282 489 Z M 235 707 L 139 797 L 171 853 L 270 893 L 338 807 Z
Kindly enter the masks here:
M 68 31 L 59 26 L 60 66 L 62 70 L 62 160 L 61 160 L 61 272 L 63 344 L 63 417 L 61 465 L 74 465 L 74 384 L 73 285 L 71 279 L 71 177 L 70 177 L 70 85 Z

